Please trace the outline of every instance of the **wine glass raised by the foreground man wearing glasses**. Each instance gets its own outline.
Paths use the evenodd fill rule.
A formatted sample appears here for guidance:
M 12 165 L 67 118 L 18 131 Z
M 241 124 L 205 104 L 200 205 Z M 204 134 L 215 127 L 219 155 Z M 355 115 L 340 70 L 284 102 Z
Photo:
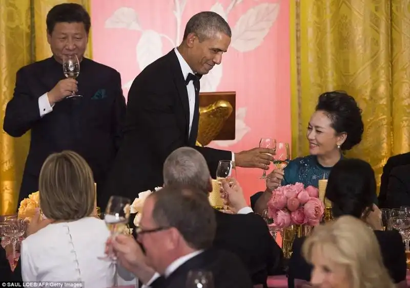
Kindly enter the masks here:
M 106 213 L 100 213 L 100 218 L 104 219 L 108 230 L 111 232 L 111 237 L 115 238 L 127 227 L 130 217 L 130 204 L 131 200 L 129 198 L 111 196 L 107 204 Z M 108 255 L 98 258 L 112 262 L 117 260 L 111 246 L 109 246 Z

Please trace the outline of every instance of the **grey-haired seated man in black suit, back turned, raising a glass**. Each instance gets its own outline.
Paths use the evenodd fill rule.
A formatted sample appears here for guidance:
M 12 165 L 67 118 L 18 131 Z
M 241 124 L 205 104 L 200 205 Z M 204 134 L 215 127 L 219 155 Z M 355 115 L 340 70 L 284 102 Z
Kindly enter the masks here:
M 163 180 L 165 187 L 195 187 L 207 196 L 212 192 L 207 162 L 201 153 L 190 147 L 178 148 L 168 156 L 163 164 Z M 244 206 L 236 210 L 239 213 L 252 212 L 250 207 Z M 213 247 L 236 254 L 248 268 L 253 284 L 266 285 L 268 274 L 282 273 L 282 250 L 259 215 L 213 211 L 217 225 Z

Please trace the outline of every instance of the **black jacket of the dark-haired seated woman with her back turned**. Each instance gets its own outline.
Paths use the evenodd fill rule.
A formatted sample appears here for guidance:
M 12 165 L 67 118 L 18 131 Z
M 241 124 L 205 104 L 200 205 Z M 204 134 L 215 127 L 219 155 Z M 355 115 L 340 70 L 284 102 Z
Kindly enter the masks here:
M 379 241 L 380 251 L 390 277 L 395 283 L 406 280 L 406 254 L 402 238 L 397 231 L 374 231 Z M 305 238 L 296 238 L 293 242 L 293 253 L 289 260 L 288 286 L 294 287 L 295 279 L 310 281 L 312 265 L 302 256 L 302 245 Z M 360 241 L 360 239 L 357 239 Z

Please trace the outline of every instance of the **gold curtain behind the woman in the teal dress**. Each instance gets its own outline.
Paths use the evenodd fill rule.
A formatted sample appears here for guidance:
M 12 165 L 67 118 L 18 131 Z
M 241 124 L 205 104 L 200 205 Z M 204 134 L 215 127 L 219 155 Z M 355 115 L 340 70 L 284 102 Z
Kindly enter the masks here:
M 380 184 L 388 157 L 409 151 L 410 1 L 291 0 L 292 154 L 309 153 L 318 96 L 344 90 L 363 109 L 362 142 Z

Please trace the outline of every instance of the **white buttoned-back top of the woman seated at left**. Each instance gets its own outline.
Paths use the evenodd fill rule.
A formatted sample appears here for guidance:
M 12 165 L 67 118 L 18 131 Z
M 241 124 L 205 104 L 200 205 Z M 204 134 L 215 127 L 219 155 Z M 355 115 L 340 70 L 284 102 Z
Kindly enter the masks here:
M 114 264 L 105 256 L 110 232 L 103 220 L 86 217 L 52 223 L 22 241 L 23 281 L 81 281 L 86 287 L 111 287 Z

